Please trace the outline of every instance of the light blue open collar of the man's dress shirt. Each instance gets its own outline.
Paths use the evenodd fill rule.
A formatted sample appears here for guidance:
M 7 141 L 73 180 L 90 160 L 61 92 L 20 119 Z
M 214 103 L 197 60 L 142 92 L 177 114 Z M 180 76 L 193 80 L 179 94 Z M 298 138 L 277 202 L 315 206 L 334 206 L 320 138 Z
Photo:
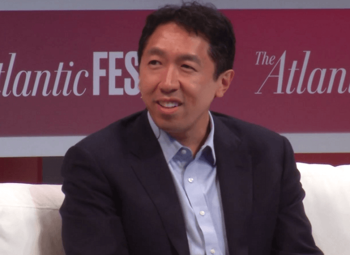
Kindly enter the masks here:
M 174 137 L 171 137 L 167 132 L 157 127 L 156 123 L 152 119 L 149 112 L 147 112 L 148 121 L 150 122 L 151 128 L 158 139 L 160 147 L 162 148 L 164 157 L 169 164 L 170 160 L 176 155 L 176 153 L 183 147 L 178 141 L 175 140 Z M 209 146 L 212 152 L 212 156 L 214 159 L 214 164 L 216 162 L 215 151 L 214 151 L 214 120 L 212 114 L 209 112 L 209 120 L 210 120 L 210 133 L 207 137 L 207 140 L 203 144 L 203 146 L 198 151 L 196 157 L 200 156 L 203 149 Z M 189 148 L 188 148 L 189 149 Z

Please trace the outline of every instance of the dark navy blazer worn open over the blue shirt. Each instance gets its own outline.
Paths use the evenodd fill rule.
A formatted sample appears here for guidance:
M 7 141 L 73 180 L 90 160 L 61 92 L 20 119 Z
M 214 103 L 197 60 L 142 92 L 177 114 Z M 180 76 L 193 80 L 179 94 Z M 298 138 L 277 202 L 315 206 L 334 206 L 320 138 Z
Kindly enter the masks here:
M 230 255 L 322 255 L 289 141 L 212 115 Z M 175 185 L 146 110 L 70 148 L 62 176 L 66 255 L 190 255 Z

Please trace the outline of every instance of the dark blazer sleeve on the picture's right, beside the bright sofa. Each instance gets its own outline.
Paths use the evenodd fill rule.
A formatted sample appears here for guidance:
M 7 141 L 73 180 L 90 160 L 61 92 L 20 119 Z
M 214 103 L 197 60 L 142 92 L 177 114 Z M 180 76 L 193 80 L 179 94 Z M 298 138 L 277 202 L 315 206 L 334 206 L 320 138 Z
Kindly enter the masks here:
M 303 206 L 305 192 L 300 183 L 292 146 L 284 142 L 283 174 L 279 213 L 272 243 L 272 255 L 323 255 L 311 234 L 311 224 Z

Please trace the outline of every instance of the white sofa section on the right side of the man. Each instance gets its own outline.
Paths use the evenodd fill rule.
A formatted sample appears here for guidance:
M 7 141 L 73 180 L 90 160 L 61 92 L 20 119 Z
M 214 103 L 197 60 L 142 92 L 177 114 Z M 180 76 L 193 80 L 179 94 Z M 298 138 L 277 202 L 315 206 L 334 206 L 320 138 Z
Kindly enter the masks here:
M 312 235 L 325 255 L 350 254 L 350 165 L 297 163 Z

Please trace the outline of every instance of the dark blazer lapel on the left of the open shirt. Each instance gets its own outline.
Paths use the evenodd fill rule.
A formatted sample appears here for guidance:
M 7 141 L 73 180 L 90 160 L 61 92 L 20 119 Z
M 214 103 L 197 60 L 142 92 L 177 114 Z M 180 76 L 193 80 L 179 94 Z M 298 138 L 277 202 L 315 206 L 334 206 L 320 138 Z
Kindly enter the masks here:
M 154 201 L 165 231 L 180 255 L 190 255 L 185 221 L 167 162 L 149 124 L 147 111 L 134 122 L 128 134 L 130 163 Z

